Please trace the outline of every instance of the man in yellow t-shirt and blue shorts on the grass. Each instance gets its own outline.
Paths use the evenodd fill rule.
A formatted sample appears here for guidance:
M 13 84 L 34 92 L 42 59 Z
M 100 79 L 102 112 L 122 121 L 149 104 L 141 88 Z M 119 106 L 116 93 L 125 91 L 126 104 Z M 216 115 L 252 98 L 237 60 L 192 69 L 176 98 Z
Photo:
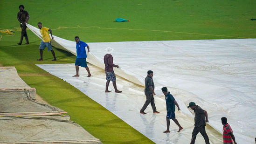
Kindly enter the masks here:
M 52 55 L 54 57 L 54 59 L 52 61 L 56 61 L 56 57 L 55 57 L 55 53 L 52 49 L 52 42 L 51 42 L 51 38 L 50 38 L 50 35 L 48 34 L 48 31 L 51 33 L 51 36 L 52 36 L 52 30 L 47 28 L 47 27 L 42 27 L 42 23 L 41 22 L 38 22 L 38 27 L 40 28 L 40 33 L 42 34 L 42 37 L 43 37 L 43 40 L 41 41 L 40 43 L 40 47 L 39 47 L 39 50 L 40 50 L 40 56 L 41 58 L 40 59 L 37 59 L 37 61 L 42 61 L 42 50 L 44 50 L 45 47 L 48 48 L 48 51 L 51 51 L 52 52 Z M 52 36 L 52 39 L 53 36 Z

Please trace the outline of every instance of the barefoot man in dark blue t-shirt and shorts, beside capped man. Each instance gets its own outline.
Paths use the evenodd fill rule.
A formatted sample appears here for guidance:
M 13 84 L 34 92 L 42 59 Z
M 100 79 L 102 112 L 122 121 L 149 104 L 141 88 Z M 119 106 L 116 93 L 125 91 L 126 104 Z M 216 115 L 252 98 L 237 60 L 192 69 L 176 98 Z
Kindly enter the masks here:
M 170 119 L 173 120 L 174 123 L 176 123 L 179 126 L 178 132 L 182 130 L 183 128 L 180 126 L 180 123 L 175 118 L 175 105 L 177 105 L 178 110 L 180 111 L 179 104 L 174 99 L 173 95 L 168 92 L 168 89 L 166 87 L 162 88 L 163 94 L 166 96 L 166 110 L 167 110 L 167 116 L 166 116 L 166 123 L 167 123 L 167 130 L 163 131 L 164 133 L 170 132 Z

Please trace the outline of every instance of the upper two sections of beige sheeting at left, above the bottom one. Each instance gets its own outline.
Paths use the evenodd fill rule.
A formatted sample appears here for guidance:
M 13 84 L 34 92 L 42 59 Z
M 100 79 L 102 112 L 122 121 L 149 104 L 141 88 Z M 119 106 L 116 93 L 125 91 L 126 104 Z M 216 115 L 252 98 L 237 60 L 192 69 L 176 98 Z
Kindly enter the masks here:
M 36 89 L 30 88 L 15 67 L 0 67 L 0 116 L 67 113 L 35 99 Z

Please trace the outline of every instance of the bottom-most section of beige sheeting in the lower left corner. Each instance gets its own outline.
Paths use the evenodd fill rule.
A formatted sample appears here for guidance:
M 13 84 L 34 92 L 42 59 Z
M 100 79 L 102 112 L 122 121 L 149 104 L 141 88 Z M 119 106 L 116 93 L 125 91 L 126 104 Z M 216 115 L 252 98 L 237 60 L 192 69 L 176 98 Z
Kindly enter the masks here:
M 102 144 L 69 116 L 0 117 L 1 144 Z

